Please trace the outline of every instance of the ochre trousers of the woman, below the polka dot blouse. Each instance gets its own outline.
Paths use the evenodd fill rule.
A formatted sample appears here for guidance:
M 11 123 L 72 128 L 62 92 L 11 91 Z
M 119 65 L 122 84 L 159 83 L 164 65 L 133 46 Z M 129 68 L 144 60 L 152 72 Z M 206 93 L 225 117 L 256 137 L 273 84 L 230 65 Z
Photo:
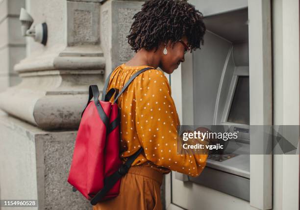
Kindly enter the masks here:
M 93 210 L 162 210 L 162 173 L 149 166 L 131 166 L 121 179 L 120 194 L 98 203 Z

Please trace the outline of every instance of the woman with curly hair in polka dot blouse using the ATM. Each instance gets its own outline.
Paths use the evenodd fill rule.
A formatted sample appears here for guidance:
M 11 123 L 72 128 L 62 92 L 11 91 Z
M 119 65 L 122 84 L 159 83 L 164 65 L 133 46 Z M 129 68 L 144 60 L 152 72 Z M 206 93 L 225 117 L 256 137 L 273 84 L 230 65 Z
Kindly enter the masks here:
M 118 99 L 121 157 L 125 161 L 140 147 L 144 150 L 122 178 L 120 194 L 93 210 L 161 210 L 163 174 L 173 170 L 198 176 L 206 164 L 207 155 L 177 155 L 180 123 L 169 82 L 157 70 L 171 74 L 186 52 L 200 48 L 205 33 L 202 14 L 186 0 L 147 0 L 133 19 L 127 38 L 136 54 L 115 69 L 108 90 L 121 90 L 138 70 L 154 68 L 136 77 Z

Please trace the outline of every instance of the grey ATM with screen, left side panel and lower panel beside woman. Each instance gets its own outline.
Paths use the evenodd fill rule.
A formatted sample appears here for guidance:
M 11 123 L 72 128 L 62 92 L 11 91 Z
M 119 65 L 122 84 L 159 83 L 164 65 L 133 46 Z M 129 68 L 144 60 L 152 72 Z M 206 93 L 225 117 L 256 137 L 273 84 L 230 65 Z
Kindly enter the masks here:
M 255 54 L 255 51 L 261 49 L 260 46 L 257 49 L 249 49 L 250 42 L 259 42 L 253 40 L 252 31 L 249 31 L 249 21 L 252 21 L 249 20 L 249 12 L 255 13 L 254 10 L 259 5 L 252 4 L 248 7 L 248 1 L 245 0 L 231 0 L 226 3 L 220 0 L 189 2 L 203 12 L 207 31 L 201 49 L 186 54 L 181 69 L 175 70 L 170 76 L 172 97 L 179 110 L 177 111 L 181 125 L 230 127 L 234 131 L 239 131 L 237 139 L 239 148 L 229 156 L 210 155 L 199 177 L 172 172 L 171 191 L 167 198 L 170 197 L 171 204 L 179 209 L 214 210 L 214 208 L 222 209 L 224 204 L 233 210 L 252 209 L 250 191 L 255 194 L 255 190 L 261 189 L 252 189 L 255 179 L 259 179 L 257 177 L 260 176 L 256 169 L 252 172 L 252 177 L 256 178 L 253 178 L 252 188 L 250 186 L 249 125 L 250 106 L 253 106 L 254 100 L 250 86 L 255 84 L 253 80 L 250 82 L 250 78 L 259 77 L 255 73 L 256 69 L 253 69 L 251 75 L 250 67 L 254 65 L 250 62 L 255 60 L 250 59 L 250 53 Z M 259 9 L 257 12 L 259 13 Z M 263 20 L 255 21 L 263 22 Z M 255 28 L 252 27 L 251 30 Z M 269 43 L 268 40 L 263 41 Z M 264 177 L 262 180 L 270 178 L 272 183 L 272 168 L 265 167 L 265 170 L 268 171 L 268 176 L 271 174 L 271 178 Z M 270 183 L 265 184 L 263 187 L 269 189 Z M 265 198 L 271 199 L 270 194 L 272 193 Z M 214 199 L 216 201 L 213 201 Z M 252 196 L 254 206 L 255 203 L 261 202 L 254 199 L 255 196 Z

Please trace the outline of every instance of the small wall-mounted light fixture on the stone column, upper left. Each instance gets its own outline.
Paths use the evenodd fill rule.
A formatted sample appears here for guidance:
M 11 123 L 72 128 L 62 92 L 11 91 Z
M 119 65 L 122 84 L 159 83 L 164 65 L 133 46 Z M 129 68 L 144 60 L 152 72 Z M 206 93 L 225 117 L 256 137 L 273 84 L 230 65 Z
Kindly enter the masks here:
M 39 42 L 43 45 L 47 44 L 48 31 L 46 23 L 36 24 L 30 28 L 33 23 L 33 18 L 24 8 L 21 8 L 20 21 L 22 24 L 21 31 L 23 36 L 31 36 L 36 42 Z

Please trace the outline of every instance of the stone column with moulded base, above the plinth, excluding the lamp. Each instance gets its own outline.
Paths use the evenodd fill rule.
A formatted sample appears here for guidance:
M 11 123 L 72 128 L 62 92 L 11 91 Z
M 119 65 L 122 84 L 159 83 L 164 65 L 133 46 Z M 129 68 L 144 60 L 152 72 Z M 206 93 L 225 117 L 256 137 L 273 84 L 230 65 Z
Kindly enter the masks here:
M 87 85 L 103 83 L 100 3 L 27 2 L 33 24 L 47 23 L 48 43 L 44 47 L 27 38 L 27 57 L 15 66 L 22 83 L 0 94 L 0 107 L 44 130 L 76 129 Z

